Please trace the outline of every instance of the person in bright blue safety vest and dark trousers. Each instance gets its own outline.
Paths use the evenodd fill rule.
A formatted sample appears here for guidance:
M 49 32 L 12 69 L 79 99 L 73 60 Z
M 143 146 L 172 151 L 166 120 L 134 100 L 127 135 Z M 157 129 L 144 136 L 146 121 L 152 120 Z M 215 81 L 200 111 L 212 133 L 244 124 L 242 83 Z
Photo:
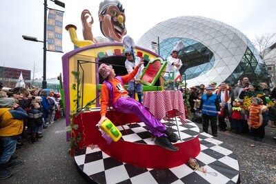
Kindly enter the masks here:
M 201 110 L 202 114 L 203 131 L 208 134 L 210 121 L 212 134 L 213 136 L 217 136 L 217 115 L 220 114 L 220 107 L 217 94 L 213 94 L 214 90 L 215 88 L 211 85 L 207 86 L 206 94 L 202 95 L 199 110 Z

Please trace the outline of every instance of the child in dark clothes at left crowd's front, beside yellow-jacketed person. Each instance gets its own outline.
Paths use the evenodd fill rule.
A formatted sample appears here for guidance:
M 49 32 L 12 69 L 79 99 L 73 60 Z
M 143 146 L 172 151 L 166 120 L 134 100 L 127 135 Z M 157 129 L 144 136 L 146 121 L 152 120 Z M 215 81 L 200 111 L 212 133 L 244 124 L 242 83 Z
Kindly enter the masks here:
M 37 138 L 41 138 L 42 135 L 39 135 L 39 127 L 43 125 L 43 119 L 42 119 L 42 112 L 41 112 L 41 107 L 39 103 L 31 103 L 30 105 L 30 110 L 28 111 L 28 128 L 30 129 L 30 142 L 31 143 L 36 143 Z

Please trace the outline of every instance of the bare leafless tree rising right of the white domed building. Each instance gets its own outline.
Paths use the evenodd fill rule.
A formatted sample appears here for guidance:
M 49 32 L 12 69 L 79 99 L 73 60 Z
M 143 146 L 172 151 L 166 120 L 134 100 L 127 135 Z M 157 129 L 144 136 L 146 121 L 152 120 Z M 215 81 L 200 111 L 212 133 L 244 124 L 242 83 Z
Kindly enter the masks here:
M 275 37 L 275 32 L 273 33 L 266 33 L 262 34 L 261 36 L 256 36 L 254 40 L 254 45 L 256 48 L 259 50 L 259 55 L 263 59 L 264 54 L 266 54 L 265 50 L 268 48 L 270 45 L 272 45 L 272 39 Z

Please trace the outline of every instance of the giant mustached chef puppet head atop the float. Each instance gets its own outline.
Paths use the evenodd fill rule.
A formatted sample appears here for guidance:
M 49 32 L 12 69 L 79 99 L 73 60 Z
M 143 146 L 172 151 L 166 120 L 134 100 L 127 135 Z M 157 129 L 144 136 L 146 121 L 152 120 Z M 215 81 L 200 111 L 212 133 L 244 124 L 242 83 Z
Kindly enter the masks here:
M 121 42 L 126 35 L 126 17 L 118 0 L 104 0 L 99 4 L 101 33 L 111 41 Z

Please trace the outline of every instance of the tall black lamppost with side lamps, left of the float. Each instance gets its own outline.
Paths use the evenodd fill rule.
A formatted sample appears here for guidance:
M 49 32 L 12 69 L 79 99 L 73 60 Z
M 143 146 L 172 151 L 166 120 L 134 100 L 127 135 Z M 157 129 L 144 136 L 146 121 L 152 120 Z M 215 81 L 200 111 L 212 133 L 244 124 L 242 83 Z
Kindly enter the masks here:
M 58 0 L 50 0 L 55 2 L 57 6 L 61 6 L 62 8 L 65 8 L 65 3 L 58 1 Z M 43 43 L 43 81 L 42 81 L 42 89 L 47 88 L 47 81 L 46 81 L 46 41 L 47 41 L 47 0 L 44 0 L 44 34 L 43 34 L 43 41 L 39 41 L 36 37 L 29 37 L 26 35 L 22 35 L 23 39 L 28 41 L 36 41 L 36 42 L 42 42 Z

